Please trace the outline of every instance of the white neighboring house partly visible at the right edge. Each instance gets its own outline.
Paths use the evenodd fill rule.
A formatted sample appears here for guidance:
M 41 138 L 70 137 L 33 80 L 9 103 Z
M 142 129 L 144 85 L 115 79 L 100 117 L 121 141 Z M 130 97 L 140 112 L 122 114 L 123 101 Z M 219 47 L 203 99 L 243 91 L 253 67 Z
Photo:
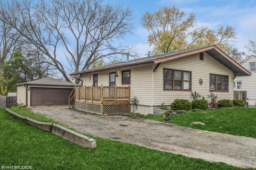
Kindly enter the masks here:
M 241 76 L 234 79 L 234 90 L 246 91 L 247 103 L 249 106 L 256 106 L 256 56 L 247 58 L 242 64 L 249 70 L 250 77 Z

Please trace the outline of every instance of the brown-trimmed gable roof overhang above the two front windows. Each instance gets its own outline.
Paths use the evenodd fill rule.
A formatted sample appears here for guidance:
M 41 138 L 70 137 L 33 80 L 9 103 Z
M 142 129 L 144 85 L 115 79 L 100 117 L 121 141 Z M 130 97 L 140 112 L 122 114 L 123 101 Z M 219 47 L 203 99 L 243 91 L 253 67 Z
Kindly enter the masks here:
M 217 46 L 212 45 L 201 49 L 196 49 L 191 52 L 172 55 L 169 57 L 163 57 L 154 60 L 154 63 L 162 63 L 170 60 L 175 60 L 177 58 L 186 57 L 189 55 L 194 55 L 198 53 L 205 52 L 212 56 L 215 60 L 220 62 L 221 64 L 225 65 L 229 70 L 233 71 L 235 74 L 235 77 L 237 76 L 249 76 L 251 75 L 251 72 L 246 70 L 242 65 L 238 64 L 236 61 L 234 61 L 231 57 L 229 57 L 226 53 L 224 53 L 221 49 L 219 49 Z

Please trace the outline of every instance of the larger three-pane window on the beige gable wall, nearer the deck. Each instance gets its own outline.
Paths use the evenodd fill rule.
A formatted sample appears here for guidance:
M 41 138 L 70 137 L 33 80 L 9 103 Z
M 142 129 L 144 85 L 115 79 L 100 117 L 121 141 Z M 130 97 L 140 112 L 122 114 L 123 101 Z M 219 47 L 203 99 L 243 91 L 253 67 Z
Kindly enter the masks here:
M 164 90 L 191 90 L 191 72 L 164 69 Z

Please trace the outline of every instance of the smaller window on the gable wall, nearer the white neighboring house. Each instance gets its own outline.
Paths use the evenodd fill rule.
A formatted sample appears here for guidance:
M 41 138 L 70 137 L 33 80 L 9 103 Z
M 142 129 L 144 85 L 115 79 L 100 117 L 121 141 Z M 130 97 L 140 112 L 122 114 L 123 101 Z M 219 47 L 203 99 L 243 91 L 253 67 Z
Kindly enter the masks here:
M 210 74 L 210 91 L 228 91 L 228 75 Z

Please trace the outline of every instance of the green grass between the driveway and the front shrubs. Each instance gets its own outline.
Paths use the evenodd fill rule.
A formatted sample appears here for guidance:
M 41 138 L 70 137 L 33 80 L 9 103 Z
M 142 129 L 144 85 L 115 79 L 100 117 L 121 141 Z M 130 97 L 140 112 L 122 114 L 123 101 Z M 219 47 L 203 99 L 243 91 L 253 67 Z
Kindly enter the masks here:
M 165 122 L 162 117 L 143 116 L 146 119 Z M 256 138 L 256 108 L 219 109 L 206 113 L 197 111 L 169 117 L 171 120 L 167 123 L 179 126 Z M 192 122 L 203 122 L 205 126 L 193 125 Z

